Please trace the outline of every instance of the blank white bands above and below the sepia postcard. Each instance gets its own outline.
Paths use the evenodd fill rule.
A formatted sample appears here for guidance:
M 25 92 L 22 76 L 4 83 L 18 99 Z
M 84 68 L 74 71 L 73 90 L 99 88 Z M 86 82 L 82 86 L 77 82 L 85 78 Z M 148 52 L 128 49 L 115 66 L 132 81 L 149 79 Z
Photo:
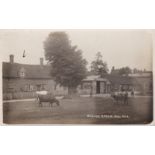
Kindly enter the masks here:
M 154 0 L 0 0 L 3 29 L 153 29 Z M 0 126 L 0 153 L 149 154 L 154 127 Z

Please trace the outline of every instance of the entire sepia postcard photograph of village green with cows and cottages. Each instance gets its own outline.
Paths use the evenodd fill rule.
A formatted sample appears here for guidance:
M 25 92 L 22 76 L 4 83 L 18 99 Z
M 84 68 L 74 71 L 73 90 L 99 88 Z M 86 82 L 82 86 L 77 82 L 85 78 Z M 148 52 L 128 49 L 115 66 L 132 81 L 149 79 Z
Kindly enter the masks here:
M 0 30 L 4 124 L 150 124 L 151 30 Z

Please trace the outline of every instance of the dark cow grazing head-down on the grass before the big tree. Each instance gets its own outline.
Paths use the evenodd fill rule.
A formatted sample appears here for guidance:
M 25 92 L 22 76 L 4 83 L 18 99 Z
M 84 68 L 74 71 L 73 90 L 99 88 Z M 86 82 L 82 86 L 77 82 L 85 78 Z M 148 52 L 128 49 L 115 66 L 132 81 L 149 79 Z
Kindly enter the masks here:
M 42 107 L 42 103 L 43 102 L 49 102 L 51 107 L 54 103 L 57 104 L 57 106 L 60 105 L 59 101 L 51 94 L 46 94 L 46 95 L 41 95 L 41 94 L 38 94 L 38 97 L 37 97 L 38 101 L 39 101 L 39 106 Z

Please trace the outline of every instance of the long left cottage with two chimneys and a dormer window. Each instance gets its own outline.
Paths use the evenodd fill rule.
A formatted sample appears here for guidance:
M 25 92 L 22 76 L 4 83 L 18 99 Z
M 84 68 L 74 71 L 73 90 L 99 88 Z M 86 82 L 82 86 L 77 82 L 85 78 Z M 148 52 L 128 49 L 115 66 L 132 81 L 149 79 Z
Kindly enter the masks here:
M 14 62 L 10 55 L 10 62 L 3 62 L 3 96 L 6 94 L 14 97 L 17 93 L 35 94 L 36 91 L 45 89 L 56 95 L 66 94 L 67 88 L 56 85 L 51 77 L 51 67 L 44 65 L 40 58 L 39 65 L 19 64 Z

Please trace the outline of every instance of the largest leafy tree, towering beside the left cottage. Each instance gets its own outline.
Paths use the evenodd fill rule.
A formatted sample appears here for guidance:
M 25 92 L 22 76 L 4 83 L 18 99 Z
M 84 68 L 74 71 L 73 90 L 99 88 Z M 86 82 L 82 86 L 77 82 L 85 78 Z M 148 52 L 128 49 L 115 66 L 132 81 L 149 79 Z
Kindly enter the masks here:
M 55 82 L 68 87 L 69 94 L 86 77 L 86 60 L 77 46 L 72 46 L 65 32 L 52 32 L 44 42 L 45 58 L 51 64 Z

